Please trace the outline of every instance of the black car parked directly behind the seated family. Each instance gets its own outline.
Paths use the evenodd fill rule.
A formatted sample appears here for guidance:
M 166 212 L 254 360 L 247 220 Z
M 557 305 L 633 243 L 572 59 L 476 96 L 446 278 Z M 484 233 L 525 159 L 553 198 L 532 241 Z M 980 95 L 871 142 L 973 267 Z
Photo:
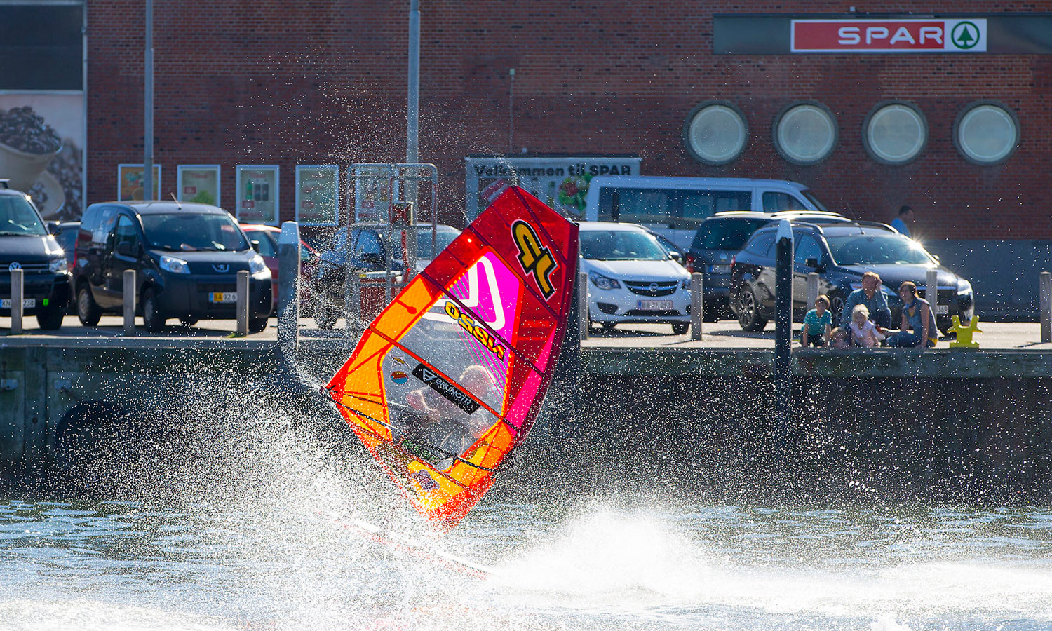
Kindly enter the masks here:
M 730 307 L 747 331 L 763 330 L 774 318 L 774 250 L 776 225 L 756 232 L 731 265 Z M 924 296 L 929 269 L 938 271 L 938 304 L 935 323 L 944 333 L 957 316 L 962 323 L 972 319 L 975 301 L 967 280 L 938 264 L 919 243 L 899 235 L 890 226 L 872 222 L 793 223 L 793 317 L 803 321 L 813 305 L 807 301 L 807 274 L 818 273 L 818 293 L 829 297 L 833 322 L 852 290 L 862 286 L 862 274 L 881 276 L 881 291 L 891 307 L 891 325 L 901 321 L 903 301 L 898 285 L 912 281 Z

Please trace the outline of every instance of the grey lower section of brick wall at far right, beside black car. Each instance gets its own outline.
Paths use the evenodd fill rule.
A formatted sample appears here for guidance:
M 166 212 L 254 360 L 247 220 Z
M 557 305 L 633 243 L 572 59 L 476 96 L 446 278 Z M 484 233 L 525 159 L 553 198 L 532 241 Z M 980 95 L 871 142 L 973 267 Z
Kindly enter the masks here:
M 1037 322 L 1038 278 L 1052 271 L 1052 241 L 946 240 L 925 247 L 971 281 L 975 313 L 985 322 Z

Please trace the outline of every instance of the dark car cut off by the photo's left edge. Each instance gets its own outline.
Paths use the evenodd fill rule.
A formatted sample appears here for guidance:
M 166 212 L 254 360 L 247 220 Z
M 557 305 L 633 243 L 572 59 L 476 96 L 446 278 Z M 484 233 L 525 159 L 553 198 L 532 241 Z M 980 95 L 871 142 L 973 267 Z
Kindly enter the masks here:
M 42 329 L 62 326 L 69 301 L 65 253 L 29 196 L 0 180 L 0 313 L 11 314 L 11 270 L 22 270 L 22 308 Z

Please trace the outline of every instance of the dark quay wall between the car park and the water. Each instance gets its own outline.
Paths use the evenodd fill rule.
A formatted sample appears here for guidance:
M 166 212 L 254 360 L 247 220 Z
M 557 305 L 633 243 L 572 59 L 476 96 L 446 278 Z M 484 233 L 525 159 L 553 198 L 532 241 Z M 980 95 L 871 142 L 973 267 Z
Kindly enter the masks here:
M 298 376 L 324 381 L 352 346 L 301 342 Z M 586 347 L 579 365 L 553 384 L 549 401 L 563 403 L 546 407 L 531 457 L 514 467 L 713 500 L 1052 495 L 1047 352 L 797 351 L 792 427 L 772 425 L 770 351 Z M 239 415 L 318 413 L 265 340 L 8 339 L 0 372 L 8 485 L 69 464 L 70 436 L 80 448 L 139 441 L 115 433 L 132 418 L 163 426 L 149 443 L 179 457 L 180 443 L 223 442 L 216 428 L 236 428 Z M 76 464 L 104 476 L 106 462 Z

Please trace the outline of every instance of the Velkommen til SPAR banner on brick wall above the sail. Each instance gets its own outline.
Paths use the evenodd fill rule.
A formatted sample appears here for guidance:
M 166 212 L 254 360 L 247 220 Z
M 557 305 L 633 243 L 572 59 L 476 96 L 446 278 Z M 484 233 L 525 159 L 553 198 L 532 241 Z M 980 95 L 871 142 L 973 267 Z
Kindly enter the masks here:
M 465 158 L 468 221 L 479 217 L 500 190 L 509 184 L 522 186 L 533 197 L 572 220 L 585 212 L 588 184 L 595 176 L 639 176 L 634 156 L 539 156 Z

